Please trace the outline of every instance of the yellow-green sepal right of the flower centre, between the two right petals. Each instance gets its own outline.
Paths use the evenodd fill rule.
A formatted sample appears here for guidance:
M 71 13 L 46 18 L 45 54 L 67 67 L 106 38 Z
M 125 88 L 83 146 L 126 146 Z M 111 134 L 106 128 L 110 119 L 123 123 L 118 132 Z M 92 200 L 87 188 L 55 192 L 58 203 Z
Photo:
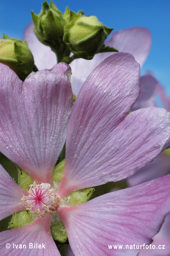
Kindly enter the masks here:
M 74 191 L 72 194 L 70 194 L 70 205 L 77 205 L 87 202 L 91 198 L 94 191 L 94 188 L 87 188 L 83 190 Z

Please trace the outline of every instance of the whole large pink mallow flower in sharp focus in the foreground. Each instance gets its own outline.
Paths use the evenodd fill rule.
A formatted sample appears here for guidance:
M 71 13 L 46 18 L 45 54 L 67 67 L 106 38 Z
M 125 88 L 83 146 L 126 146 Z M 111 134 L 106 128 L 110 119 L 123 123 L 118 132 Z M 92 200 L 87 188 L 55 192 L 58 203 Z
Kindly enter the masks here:
M 116 53 L 96 66 L 71 114 L 70 68 L 65 63 L 31 73 L 23 83 L 8 66 L 0 68 L 0 151 L 34 179 L 30 190 L 23 190 L 0 167 L 0 217 L 24 209 L 35 214 L 31 223 L 0 233 L 1 253 L 60 255 L 50 232 L 56 218 L 76 256 L 137 255 L 170 212 L 170 176 L 70 203 L 74 191 L 122 180 L 170 146 L 169 112 L 152 107 L 128 114 L 139 96 L 140 66 L 134 57 Z M 57 184 L 52 171 L 69 115 L 65 167 Z M 13 248 L 13 243 L 26 249 Z M 108 247 L 121 244 L 137 247 Z

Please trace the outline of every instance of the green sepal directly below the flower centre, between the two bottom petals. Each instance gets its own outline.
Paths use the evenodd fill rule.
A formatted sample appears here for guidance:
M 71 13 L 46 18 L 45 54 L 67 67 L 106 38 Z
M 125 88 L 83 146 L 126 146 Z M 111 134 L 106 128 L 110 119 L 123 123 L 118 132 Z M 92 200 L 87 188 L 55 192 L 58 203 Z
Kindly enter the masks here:
M 67 240 L 67 233 L 65 230 L 65 226 L 62 221 L 54 221 L 51 224 L 51 234 L 52 237 L 58 240 L 61 243 L 65 243 Z

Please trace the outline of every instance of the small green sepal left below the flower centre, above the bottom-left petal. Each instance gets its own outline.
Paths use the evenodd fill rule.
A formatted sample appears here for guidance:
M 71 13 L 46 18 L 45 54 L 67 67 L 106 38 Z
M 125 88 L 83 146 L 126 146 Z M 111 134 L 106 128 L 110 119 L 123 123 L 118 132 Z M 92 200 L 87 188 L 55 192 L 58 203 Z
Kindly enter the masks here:
M 8 229 L 19 228 L 25 226 L 35 220 L 34 213 L 30 211 L 21 211 L 13 214 Z

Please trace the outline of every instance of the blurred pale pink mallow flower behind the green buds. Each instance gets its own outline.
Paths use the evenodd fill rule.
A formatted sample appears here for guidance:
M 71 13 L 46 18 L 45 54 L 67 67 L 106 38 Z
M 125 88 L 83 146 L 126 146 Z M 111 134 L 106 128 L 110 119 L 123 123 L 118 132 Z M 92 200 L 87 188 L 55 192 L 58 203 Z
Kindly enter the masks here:
M 23 40 L 27 41 L 33 53 L 35 65 L 39 70 L 52 68 L 57 62 L 56 55 L 48 46 L 39 42 L 34 34 L 33 27 L 32 22 L 26 27 Z M 113 33 L 109 40 L 105 42 L 105 45 L 116 48 L 119 52 L 131 53 L 142 66 L 151 48 L 151 34 L 147 28 L 134 26 Z M 112 54 L 97 53 L 92 60 L 79 58 L 70 63 L 72 69 L 71 85 L 76 96 L 95 66 Z

